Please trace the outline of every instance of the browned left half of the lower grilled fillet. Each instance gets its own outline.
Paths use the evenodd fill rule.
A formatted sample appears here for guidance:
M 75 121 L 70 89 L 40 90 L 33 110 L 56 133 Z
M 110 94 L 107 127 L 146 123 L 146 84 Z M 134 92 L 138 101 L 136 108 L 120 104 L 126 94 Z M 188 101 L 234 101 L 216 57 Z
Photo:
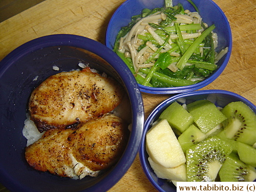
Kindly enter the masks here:
M 65 167 L 72 166 L 67 138 L 74 130 L 54 129 L 26 147 L 25 158 L 30 166 L 41 172 L 67 177 Z

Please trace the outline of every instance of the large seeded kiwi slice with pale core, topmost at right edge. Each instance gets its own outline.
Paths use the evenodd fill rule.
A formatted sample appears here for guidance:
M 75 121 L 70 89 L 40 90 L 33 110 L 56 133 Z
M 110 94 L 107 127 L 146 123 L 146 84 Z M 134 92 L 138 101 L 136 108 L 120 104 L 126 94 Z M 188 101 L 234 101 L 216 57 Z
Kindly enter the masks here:
M 253 145 L 256 141 L 256 115 L 242 101 L 231 102 L 221 111 L 227 119 L 223 121 L 225 135 L 242 143 Z

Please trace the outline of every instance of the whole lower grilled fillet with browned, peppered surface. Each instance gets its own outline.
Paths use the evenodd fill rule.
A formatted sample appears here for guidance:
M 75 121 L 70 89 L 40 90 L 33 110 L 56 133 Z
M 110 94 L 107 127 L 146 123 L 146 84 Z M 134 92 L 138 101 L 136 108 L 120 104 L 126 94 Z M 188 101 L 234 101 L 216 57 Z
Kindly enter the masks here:
M 127 124 L 113 114 L 90 120 L 77 130 L 52 129 L 26 147 L 30 166 L 62 177 L 97 176 L 115 164 L 125 149 Z

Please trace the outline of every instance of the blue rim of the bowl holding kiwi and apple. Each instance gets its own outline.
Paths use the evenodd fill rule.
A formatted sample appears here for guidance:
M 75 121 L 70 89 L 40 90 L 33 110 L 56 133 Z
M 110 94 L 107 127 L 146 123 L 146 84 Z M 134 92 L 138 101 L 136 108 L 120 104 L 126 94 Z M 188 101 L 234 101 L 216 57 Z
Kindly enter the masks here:
M 183 97 L 187 97 L 187 96 L 195 96 L 195 95 L 207 95 L 207 94 L 222 94 L 222 95 L 227 95 L 230 97 L 237 98 L 238 100 L 243 100 L 254 111 L 254 113 L 256 113 L 256 106 L 252 102 L 250 102 L 248 99 L 244 98 L 243 96 L 238 95 L 237 93 L 233 93 L 233 92 L 226 91 L 226 90 L 200 90 L 200 91 L 193 91 L 193 92 L 189 92 L 189 93 L 177 94 L 177 95 L 174 95 L 174 96 L 171 96 L 171 97 L 165 99 L 160 104 L 158 104 L 156 106 L 156 108 L 150 113 L 150 115 L 145 120 L 144 131 L 143 131 L 142 140 L 141 140 L 141 146 L 139 149 L 139 157 L 140 157 L 140 162 L 141 162 L 143 172 L 146 175 L 147 179 L 152 183 L 152 185 L 158 191 L 166 192 L 150 176 L 151 174 L 150 174 L 149 167 L 146 166 L 146 162 L 148 160 L 144 156 L 144 153 L 146 153 L 146 151 L 145 151 L 145 136 L 146 136 L 147 131 L 151 127 L 152 120 L 159 114 L 159 111 L 161 111 L 163 108 L 165 108 L 166 105 L 170 105 L 171 103 L 173 103 L 174 101 L 176 101 L 179 98 L 183 98 Z M 176 191 L 176 189 L 174 189 L 173 191 Z

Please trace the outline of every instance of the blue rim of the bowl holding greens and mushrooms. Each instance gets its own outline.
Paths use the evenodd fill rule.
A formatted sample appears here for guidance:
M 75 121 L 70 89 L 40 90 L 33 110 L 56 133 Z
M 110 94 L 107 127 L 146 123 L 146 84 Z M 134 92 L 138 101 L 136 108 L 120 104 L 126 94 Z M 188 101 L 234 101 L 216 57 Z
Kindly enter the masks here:
M 110 22 L 109 22 L 109 25 L 108 25 L 108 28 L 106 29 L 106 35 L 105 35 L 105 45 L 106 45 L 106 47 L 108 47 L 110 49 L 113 49 L 112 46 L 111 46 L 111 43 L 110 43 L 110 36 L 112 34 L 112 32 L 110 31 L 110 28 L 112 28 L 112 26 L 115 25 L 115 16 L 116 16 L 116 14 L 118 14 L 126 4 L 129 4 L 129 2 L 132 2 L 132 1 L 134 1 L 134 0 L 127 0 L 124 3 L 122 3 L 117 8 L 117 10 L 114 12 L 114 14 L 112 15 L 112 17 L 110 19 Z M 207 86 L 208 84 L 210 84 L 214 80 L 216 80 L 220 76 L 220 74 L 224 71 L 224 69 L 226 68 L 227 63 L 230 59 L 231 51 L 232 51 L 231 27 L 229 25 L 229 22 L 228 22 L 228 19 L 227 19 L 226 15 L 221 10 L 221 8 L 215 2 L 213 2 L 211 0 L 209 0 L 209 2 L 212 5 L 214 5 L 217 8 L 217 10 L 219 10 L 219 12 L 221 13 L 221 15 L 224 18 L 224 21 L 227 25 L 227 28 L 228 28 L 228 31 L 227 31 L 228 36 L 229 36 L 229 44 L 227 45 L 228 52 L 225 55 L 225 59 L 224 59 L 222 65 L 214 72 L 214 75 L 210 75 L 205 80 L 203 80 L 199 83 L 196 83 L 196 84 L 193 84 L 193 85 L 190 85 L 190 86 L 172 87 L 172 88 L 151 88 L 151 87 L 147 87 L 147 86 L 142 86 L 142 84 L 138 83 L 141 92 L 148 93 L 148 94 L 176 94 L 176 93 L 187 93 L 187 92 L 190 92 L 190 91 L 196 91 L 196 90 L 199 90 L 199 89 Z

